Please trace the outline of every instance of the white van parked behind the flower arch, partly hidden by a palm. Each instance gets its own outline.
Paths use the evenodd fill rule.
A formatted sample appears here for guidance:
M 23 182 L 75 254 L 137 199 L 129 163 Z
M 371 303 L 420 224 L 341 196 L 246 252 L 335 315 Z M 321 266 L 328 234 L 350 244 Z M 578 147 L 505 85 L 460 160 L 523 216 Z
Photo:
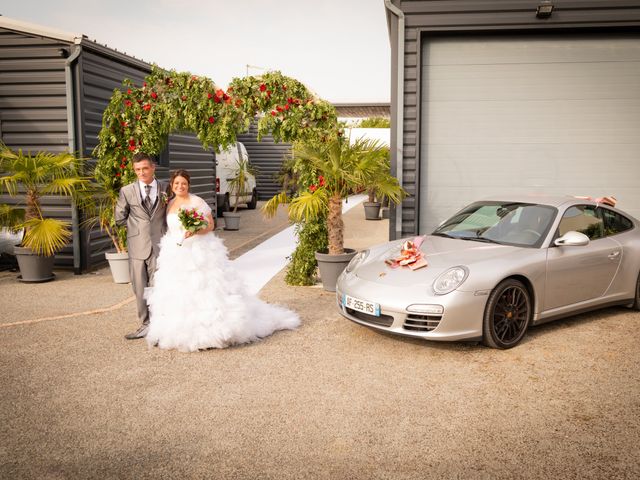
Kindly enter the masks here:
M 234 171 L 238 165 L 238 159 L 242 155 L 244 160 L 249 159 L 247 149 L 241 142 L 231 145 L 228 149 L 216 153 L 216 199 L 218 202 L 218 216 L 222 212 L 228 212 L 233 208 L 236 196 L 231 194 L 229 180 L 234 177 Z M 253 210 L 258 204 L 258 190 L 256 189 L 256 179 L 253 175 L 248 175 L 247 189 L 238 198 L 238 204 L 246 204 L 247 208 Z

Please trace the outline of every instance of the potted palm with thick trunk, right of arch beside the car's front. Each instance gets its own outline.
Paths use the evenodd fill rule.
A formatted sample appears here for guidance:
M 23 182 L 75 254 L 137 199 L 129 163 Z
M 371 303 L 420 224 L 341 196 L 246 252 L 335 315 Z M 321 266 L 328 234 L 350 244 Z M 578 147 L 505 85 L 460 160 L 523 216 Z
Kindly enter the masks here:
M 328 249 L 315 254 L 325 290 L 335 291 L 338 276 L 356 253 L 344 248 L 342 200 L 374 182 L 378 191 L 394 203 L 405 195 L 397 179 L 378 166 L 385 151 L 387 148 L 377 141 L 359 139 L 350 144 L 340 135 L 294 146 L 294 159 L 306 163 L 317 175 L 317 182 L 289 202 L 289 217 L 297 222 L 326 219 Z M 275 214 L 278 205 L 287 200 L 284 194 L 273 197 L 265 205 L 265 213 Z

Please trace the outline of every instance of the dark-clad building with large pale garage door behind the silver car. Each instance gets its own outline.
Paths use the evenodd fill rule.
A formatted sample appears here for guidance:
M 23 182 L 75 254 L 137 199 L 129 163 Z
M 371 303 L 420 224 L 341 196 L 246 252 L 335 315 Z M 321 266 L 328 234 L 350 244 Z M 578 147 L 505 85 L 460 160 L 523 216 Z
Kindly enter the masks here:
M 640 216 L 640 2 L 385 7 L 392 168 L 411 194 L 391 238 L 496 193 L 614 194 Z

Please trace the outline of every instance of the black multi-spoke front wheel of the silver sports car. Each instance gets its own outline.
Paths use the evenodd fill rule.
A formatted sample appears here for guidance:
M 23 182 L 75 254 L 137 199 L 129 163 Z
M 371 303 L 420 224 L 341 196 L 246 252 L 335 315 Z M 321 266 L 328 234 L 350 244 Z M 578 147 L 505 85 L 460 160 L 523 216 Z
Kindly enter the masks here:
M 524 337 L 533 308 L 527 287 L 509 278 L 493 289 L 484 312 L 483 343 L 492 348 L 515 347 Z

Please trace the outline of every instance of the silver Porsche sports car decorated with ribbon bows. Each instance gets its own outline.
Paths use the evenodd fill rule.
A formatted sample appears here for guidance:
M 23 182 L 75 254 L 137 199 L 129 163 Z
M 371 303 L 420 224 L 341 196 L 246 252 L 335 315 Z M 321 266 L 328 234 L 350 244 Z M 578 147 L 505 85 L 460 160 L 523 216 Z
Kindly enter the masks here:
M 359 252 L 336 293 L 342 315 L 368 327 L 510 348 L 529 325 L 640 309 L 640 222 L 577 197 L 484 200 L 431 235 Z

